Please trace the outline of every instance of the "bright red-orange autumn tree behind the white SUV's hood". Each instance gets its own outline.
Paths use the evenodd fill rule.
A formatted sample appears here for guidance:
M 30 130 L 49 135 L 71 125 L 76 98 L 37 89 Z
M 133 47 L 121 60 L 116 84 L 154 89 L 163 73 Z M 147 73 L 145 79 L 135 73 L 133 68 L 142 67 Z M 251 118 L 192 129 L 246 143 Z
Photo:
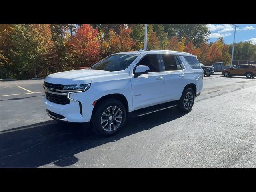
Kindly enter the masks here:
M 74 66 L 91 66 L 99 60 L 98 30 L 90 24 L 78 27 L 74 36 L 68 42 Z

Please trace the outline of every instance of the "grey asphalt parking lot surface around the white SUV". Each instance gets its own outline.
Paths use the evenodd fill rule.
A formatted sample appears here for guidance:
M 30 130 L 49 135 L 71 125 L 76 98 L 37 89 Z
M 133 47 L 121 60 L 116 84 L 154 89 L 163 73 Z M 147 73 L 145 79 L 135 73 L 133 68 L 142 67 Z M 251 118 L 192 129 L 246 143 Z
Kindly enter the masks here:
M 256 167 L 256 78 L 206 76 L 188 114 L 128 118 L 108 138 L 48 117 L 43 81 L 0 82 L 1 167 Z

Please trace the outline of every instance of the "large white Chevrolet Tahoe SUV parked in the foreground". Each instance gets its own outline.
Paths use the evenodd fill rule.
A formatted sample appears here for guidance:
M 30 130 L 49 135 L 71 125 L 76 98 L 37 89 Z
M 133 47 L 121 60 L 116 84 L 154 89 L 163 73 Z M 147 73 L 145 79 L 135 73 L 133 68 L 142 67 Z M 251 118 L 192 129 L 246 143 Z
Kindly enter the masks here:
M 89 69 L 44 80 L 47 114 L 62 122 L 90 122 L 100 135 L 117 133 L 126 116 L 177 106 L 189 112 L 203 87 L 196 56 L 168 50 L 112 54 Z

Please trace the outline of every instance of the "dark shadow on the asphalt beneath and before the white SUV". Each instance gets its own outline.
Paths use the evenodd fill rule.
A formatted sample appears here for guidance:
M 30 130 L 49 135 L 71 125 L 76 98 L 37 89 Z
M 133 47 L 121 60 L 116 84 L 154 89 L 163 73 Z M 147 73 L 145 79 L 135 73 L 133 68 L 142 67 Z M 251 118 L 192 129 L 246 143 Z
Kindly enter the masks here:
M 172 108 L 128 118 L 118 134 L 107 138 L 93 134 L 88 124 L 65 124 L 54 120 L 4 130 L 0 132 L 0 167 L 39 167 L 52 163 L 69 166 L 78 162 L 75 154 L 152 129 L 183 115 Z

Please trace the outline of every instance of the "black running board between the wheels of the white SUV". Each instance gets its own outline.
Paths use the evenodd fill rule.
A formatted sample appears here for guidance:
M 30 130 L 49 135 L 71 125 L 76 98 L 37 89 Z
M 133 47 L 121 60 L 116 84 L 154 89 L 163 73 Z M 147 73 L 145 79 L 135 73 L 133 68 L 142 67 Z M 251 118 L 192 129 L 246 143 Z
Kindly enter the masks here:
M 177 102 L 168 102 L 168 103 L 164 103 L 164 104 L 159 104 L 159 105 L 154 105 L 154 106 L 150 106 L 150 107 L 146 107 L 146 108 L 142 108 L 142 109 L 138 109 L 135 111 L 132 111 L 129 113 L 130 117 L 140 117 L 143 115 L 147 115 L 150 113 L 154 113 L 154 112 L 158 112 L 161 110 L 165 110 L 168 108 L 172 108 L 172 107 L 176 107 L 177 106 Z

